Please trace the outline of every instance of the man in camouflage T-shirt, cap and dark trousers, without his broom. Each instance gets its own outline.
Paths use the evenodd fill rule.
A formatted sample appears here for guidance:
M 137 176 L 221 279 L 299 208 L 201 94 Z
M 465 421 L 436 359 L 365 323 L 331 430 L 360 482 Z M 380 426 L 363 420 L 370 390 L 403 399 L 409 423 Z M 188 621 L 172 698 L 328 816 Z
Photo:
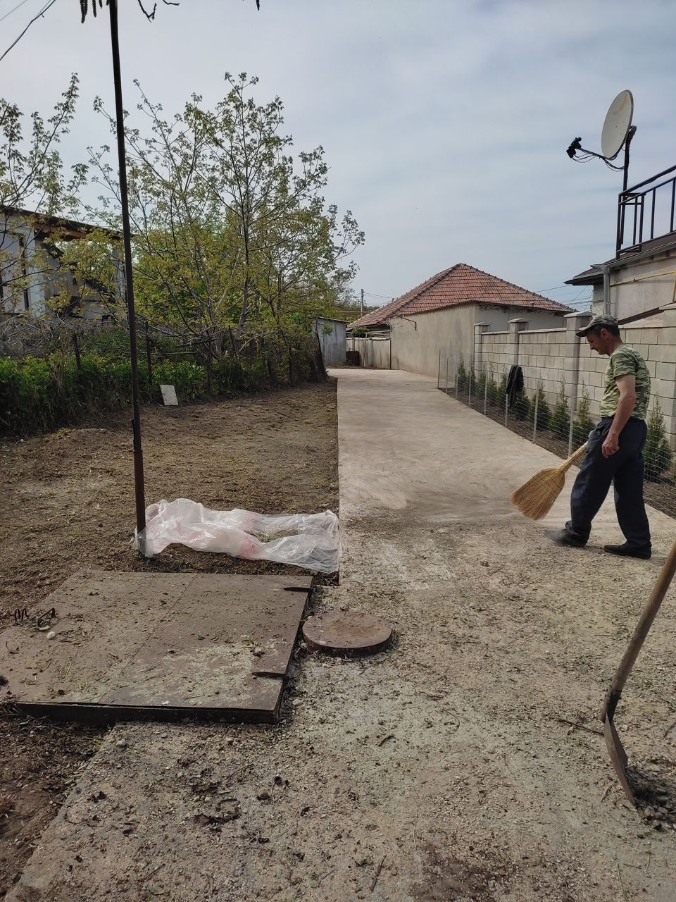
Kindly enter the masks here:
M 650 375 L 641 354 L 620 338 L 617 319 L 594 317 L 575 333 L 587 338 L 597 354 L 609 356 L 601 401 L 601 419 L 589 433 L 587 454 L 571 493 L 571 520 L 564 529 L 546 529 L 559 545 L 587 544 L 591 521 L 604 502 L 610 483 L 615 488 L 617 520 L 626 541 L 605 551 L 625 557 L 651 556 L 650 527 L 644 504 L 643 449 L 645 417 L 650 400 Z

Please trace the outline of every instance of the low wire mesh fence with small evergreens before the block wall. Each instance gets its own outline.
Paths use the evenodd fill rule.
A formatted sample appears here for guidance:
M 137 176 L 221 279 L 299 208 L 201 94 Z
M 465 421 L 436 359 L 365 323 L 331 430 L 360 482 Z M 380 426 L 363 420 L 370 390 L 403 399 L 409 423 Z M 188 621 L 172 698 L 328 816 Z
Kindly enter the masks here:
M 488 366 L 475 372 L 461 357 L 442 351 L 437 388 L 535 445 L 560 457 L 571 456 L 587 441 L 598 420 L 591 412 L 588 388 L 580 383 L 574 391 L 562 381 L 559 394 L 553 399 L 547 397 L 541 381 L 523 372 L 523 382 L 516 380 L 515 373 L 510 383 L 511 369 Z M 659 400 L 654 397 L 647 428 L 645 501 L 658 511 L 676 517 L 676 457 L 671 451 Z

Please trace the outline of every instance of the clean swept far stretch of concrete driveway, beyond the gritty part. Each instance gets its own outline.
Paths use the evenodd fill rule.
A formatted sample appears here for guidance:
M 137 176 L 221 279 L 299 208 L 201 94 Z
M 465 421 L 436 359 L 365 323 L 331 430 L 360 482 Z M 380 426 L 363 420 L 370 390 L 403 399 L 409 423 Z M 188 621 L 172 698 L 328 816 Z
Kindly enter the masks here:
M 416 532 L 419 539 L 435 524 L 449 522 L 523 526 L 508 500 L 510 492 L 538 470 L 561 463 L 544 448 L 437 391 L 429 377 L 404 371 L 332 372 L 339 378 L 342 584 L 370 578 L 370 561 L 377 556 L 369 553 L 368 543 L 379 539 L 379 517 L 398 520 L 402 535 Z M 562 527 L 569 519 L 575 473 L 571 470 L 544 520 L 525 521 L 534 546 L 553 550 L 544 529 Z M 658 554 L 666 553 L 676 538 L 674 521 L 652 509 L 650 520 L 653 544 Z M 588 553 L 622 540 L 609 492 L 594 521 Z M 402 548 L 400 553 L 407 557 L 407 572 L 416 568 L 411 577 L 434 578 L 425 559 L 408 552 Z

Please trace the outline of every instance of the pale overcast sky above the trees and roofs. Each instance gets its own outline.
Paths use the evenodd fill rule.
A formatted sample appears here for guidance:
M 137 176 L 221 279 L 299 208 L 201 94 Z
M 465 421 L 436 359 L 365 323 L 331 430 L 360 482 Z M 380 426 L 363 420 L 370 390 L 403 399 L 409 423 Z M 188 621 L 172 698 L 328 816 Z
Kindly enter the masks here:
M 0 0 L 0 53 L 47 2 Z M 622 174 L 565 151 L 580 135 L 600 152 L 621 90 L 629 185 L 676 164 L 673 0 L 160 0 L 152 23 L 119 5 L 127 108 L 134 78 L 169 117 L 245 71 L 260 103 L 281 98 L 296 151 L 323 145 L 326 201 L 366 233 L 353 287 L 371 304 L 464 262 L 580 306 L 589 290 L 563 282 L 614 256 Z M 113 109 L 109 19 L 56 0 L 0 61 L 0 95 L 48 115 L 71 71 L 69 164 L 110 143 L 92 112 L 97 94 Z

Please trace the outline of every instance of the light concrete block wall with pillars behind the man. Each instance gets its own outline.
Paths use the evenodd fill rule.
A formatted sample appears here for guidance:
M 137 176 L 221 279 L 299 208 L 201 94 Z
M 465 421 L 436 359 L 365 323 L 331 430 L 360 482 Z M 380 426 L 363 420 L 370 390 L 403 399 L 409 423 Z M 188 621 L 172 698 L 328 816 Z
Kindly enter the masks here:
M 664 306 L 662 314 L 662 326 L 630 324 L 620 328 L 620 335 L 644 357 L 651 377 L 651 407 L 659 403 L 671 446 L 676 448 L 676 304 Z M 511 320 L 508 332 L 489 332 L 484 324 L 477 324 L 476 373 L 492 369 L 499 379 L 512 364 L 518 364 L 524 371 L 526 391 L 532 395 L 542 382 L 551 406 L 558 400 L 563 379 L 571 410 L 577 410 L 586 391 L 591 416 L 598 417 L 607 357 L 598 356 L 584 338 L 575 336 L 575 331 L 589 322 L 589 314 L 571 313 L 564 322 L 563 328 L 529 330 L 524 319 Z

